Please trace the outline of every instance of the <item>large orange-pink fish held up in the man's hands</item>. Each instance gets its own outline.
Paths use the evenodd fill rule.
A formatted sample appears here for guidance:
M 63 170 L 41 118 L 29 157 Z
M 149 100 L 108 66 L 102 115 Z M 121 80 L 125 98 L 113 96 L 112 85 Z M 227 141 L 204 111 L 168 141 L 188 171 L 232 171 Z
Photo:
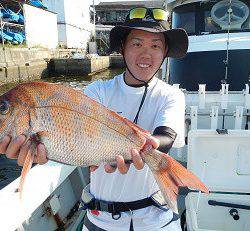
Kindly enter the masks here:
M 45 145 L 49 160 L 82 167 L 115 162 L 117 155 L 131 161 L 131 149 L 143 150 L 143 160 L 166 206 L 173 210 L 179 187 L 209 193 L 197 176 L 170 155 L 145 146 L 148 131 L 70 86 L 27 82 L 1 95 L 0 139 L 21 134 L 31 145 L 21 173 L 20 194 L 38 143 Z

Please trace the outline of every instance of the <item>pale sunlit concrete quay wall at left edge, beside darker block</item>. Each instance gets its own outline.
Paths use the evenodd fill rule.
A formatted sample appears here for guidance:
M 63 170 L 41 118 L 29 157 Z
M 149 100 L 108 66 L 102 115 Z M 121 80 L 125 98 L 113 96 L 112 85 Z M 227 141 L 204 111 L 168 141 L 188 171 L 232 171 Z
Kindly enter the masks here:
M 49 60 L 71 55 L 69 49 L 0 48 L 0 84 L 48 76 Z

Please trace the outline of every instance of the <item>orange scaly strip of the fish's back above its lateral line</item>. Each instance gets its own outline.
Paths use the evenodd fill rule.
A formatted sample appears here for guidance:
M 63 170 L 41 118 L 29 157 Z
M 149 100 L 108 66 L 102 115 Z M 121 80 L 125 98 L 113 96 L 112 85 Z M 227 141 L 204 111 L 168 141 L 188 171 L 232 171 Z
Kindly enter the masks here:
M 128 126 L 128 123 L 131 123 L 130 121 L 126 122 L 126 119 L 121 120 L 119 115 L 108 110 L 103 105 L 98 104 L 79 90 L 62 85 L 60 86 L 61 89 L 59 93 L 58 86 L 55 85 L 56 84 L 46 85 L 46 88 L 39 85 L 39 88 L 41 88 L 39 90 L 39 95 L 37 94 L 37 91 L 36 94 L 33 94 L 34 90 L 31 87 L 30 95 L 31 97 L 36 95 L 36 99 L 34 99 L 36 107 L 60 107 L 80 112 L 89 118 L 95 119 L 100 123 L 106 124 L 108 127 L 119 131 L 119 133 L 129 137 L 131 141 L 135 142 L 138 146 L 142 146 L 144 139 L 137 131 L 135 131 L 135 129 Z M 46 98 L 44 95 L 46 95 L 48 91 L 54 92 L 54 94 L 50 94 Z M 148 133 L 141 128 L 140 131 L 145 134 Z

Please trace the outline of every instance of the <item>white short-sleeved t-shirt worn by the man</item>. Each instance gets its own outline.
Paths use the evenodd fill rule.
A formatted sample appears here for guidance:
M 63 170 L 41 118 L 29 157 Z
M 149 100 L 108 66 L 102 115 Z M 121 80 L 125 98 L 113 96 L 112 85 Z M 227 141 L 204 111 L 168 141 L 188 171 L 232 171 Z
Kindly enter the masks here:
M 84 93 L 121 116 L 133 121 L 139 109 L 145 87 L 126 85 L 123 75 L 108 81 L 96 81 L 85 89 Z M 173 147 L 184 145 L 184 94 L 177 88 L 153 78 L 141 108 L 138 125 L 149 132 L 156 127 L 167 126 L 177 133 Z M 101 165 L 91 173 L 90 192 L 97 199 L 105 201 L 135 201 L 149 197 L 158 190 L 158 185 L 147 165 L 142 170 L 130 166 L 127 174 L 118 170 L 112 174 L 104 171 Z M 133 211 L 133 223 L 136 230 L 157 230 L 172 219 L 172 211 L 150 206 Z M 129 230 L 131 213 L 124 212 L 118 220 L 112 219 L 106 212 L 95 216 L 88 212 L 91 222 L 106 230 Z M 165 230 L 165 229 L 164 229 Z M 173 229 L 171 229 L 173 230 Z

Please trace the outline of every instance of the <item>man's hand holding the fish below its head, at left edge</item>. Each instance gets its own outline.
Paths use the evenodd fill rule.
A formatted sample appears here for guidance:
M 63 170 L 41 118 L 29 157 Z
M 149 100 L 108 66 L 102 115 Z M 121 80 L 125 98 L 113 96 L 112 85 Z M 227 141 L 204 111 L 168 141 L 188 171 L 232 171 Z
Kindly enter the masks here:
M 0 153 L 5 154 L 10 159 L 17 159 L 18 165 L 22 166 L 31 145 L 30 141 L 25 141 L 24 135 L 17 136 L 15 139 L 5 136 L 0 140 Z M 45 164 L 47 161 L 45 146 L 38 144 L 34 163 Z

